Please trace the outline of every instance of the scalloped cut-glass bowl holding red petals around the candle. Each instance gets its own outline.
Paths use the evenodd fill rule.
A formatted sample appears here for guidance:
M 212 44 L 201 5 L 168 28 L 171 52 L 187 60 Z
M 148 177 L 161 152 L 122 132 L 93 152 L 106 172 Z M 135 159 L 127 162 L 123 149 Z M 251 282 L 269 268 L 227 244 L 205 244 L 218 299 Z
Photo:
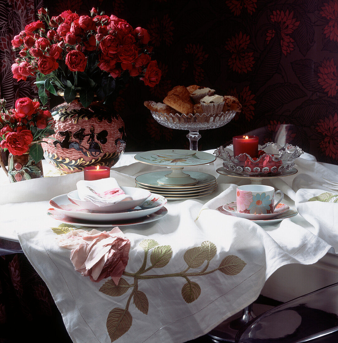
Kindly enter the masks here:
M 216 157 L 223 159 L 223 167 L 238 175 L 267 175 L 283 174 L 294 166 L 296 158 L 304 152 L 298 146 L 285 144 L 281 146 L 277 143 L 266 143 L 259 145 L 258 150 L 263 150 L 264 155 L 253 159 L 248 154 L 233 156 L 233 146 L 228 145 L 225 148 L 220 146 L 214 152 Z

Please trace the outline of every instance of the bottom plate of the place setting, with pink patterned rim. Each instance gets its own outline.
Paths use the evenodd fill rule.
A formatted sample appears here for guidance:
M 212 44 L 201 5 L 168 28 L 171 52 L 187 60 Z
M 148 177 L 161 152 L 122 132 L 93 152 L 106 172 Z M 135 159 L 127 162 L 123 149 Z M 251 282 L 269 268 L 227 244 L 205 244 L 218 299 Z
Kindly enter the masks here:
M 47 211 L 47 215 L 51 218 L 59 220 L 65 224 L 79 225 L 79 226 L 90 226 L 90 227 L 115 227 L 115 226 L 126 226 L 126 225 L 138 225 L 144 223 L 150 223 L 155 220 L 163 218 L 168 213 L 165 207 L 162 207 L 155 213 L 151 213 L 145 217 L 121 220 L 121 221 L 107 221 L 107 222 L 91 222 L 86 220 L 80 220 L 76 218 L 68 217 L 65 214 L 58 212 L 57 210 L 50 208 Z

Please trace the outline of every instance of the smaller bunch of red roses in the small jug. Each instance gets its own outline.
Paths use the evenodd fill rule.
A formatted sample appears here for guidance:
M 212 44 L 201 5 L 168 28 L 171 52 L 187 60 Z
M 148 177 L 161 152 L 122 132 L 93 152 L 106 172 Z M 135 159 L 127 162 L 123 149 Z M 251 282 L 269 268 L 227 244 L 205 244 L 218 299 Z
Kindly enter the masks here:
M 30 98 L 16 100 L 15 108 L 8 110 L 5 109 L 4 99 L 0 100 L 0 104 L 0 147 L 16 156 L 29 150 L 35 163 L 39 162 L 43 158 L 39 141 L 55 133 L 50 112 L 40 107 L 36 99 Z

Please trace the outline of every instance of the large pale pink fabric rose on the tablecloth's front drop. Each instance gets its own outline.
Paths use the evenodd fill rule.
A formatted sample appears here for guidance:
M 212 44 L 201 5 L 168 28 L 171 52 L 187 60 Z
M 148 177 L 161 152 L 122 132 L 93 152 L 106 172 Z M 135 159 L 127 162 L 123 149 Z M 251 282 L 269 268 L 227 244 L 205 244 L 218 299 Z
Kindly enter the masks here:
M 75 270 L 94 282 L 110 276 L 117 285 L 128 263 L 130 240 L 118 227 L 109 232 L 70 231 L 58 237 L 58 245 L 71 249 Z

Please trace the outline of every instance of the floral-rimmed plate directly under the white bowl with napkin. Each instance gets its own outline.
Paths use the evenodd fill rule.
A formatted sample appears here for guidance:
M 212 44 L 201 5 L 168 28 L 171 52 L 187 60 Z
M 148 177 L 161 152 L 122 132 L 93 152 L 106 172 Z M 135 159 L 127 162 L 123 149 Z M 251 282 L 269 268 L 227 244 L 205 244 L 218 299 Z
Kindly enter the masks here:
M 124 212 L 98 213 L 86 210 L 77 204 L 72 203 L 67 194 L 54 197 L 49 201 L 54 210 L 67 217 L 75 218 L 81 221 L 106 222 L 106 221 L 124 221 L 141 218 L 157 212 L 167 203 L 167 199 L 159 194 L 151 193 L 150 197 L 140 206 Z

